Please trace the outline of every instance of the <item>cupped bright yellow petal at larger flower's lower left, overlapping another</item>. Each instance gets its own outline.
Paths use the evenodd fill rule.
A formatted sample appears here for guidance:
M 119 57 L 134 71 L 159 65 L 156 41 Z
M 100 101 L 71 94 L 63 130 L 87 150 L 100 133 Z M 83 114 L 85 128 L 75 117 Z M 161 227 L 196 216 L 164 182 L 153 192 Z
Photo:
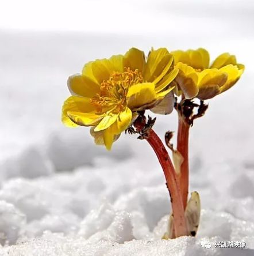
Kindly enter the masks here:
M 80 126 L 98 125 L 98 123 L 103 118 L 103 115 L 97 115 L 94 113 L 74 112 L 74 111 L 68 111 L 67 115 L 72 122 Z

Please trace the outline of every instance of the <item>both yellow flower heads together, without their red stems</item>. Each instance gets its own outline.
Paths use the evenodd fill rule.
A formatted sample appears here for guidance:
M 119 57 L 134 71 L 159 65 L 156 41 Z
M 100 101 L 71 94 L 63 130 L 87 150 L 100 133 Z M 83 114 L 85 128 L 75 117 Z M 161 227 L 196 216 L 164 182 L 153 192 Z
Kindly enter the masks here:
M 228 53 L 209 66 L 209 53 L 203 48 L 152 49 L 147 58 L 131 48 L 125 55 L 88 62 L 81 74 L 68 78 L 72 96 L 64 101 L 62 121 L 69 127 L 91 126 L 95 143 L 110 149 L 138 111 L 170 114 L 174 93 L 186 99 L 210 99 L 233 86 L 243 71 L 244 66 Z

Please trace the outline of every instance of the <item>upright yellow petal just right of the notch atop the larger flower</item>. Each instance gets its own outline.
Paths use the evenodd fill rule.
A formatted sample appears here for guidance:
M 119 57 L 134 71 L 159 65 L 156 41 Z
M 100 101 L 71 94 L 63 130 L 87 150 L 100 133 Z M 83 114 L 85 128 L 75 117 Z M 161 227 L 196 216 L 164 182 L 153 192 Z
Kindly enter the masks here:
M 158 50 L 151 50 L 148 55 L 147 63 L 145 65 L 144 69 L 144 80 L 151 82 L 155 80 L 155 77 L 153 74 L 155 73 L 155 70 L 157 69 L 157 66 L 161 62 L 161 59 L 165 55 L 169 54 L 168 50 L 166 48 L 159 48 Z M 159 73 L 161 73 L 162 70 L 160 70 Z

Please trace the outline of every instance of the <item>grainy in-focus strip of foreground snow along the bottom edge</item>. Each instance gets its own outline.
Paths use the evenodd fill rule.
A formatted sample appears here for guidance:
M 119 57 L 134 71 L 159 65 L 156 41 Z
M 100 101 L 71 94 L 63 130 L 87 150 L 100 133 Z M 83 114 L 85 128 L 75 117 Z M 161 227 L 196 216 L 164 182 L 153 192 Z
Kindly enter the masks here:
M 84 238 L 63 236 L 44 232 L 41 238 L 20 242 L 16 246 L 2 249 L 2 256 L 159 256 L 159 255 L 196 255 L 196 256 L 251 256 L 253 250 L 249 249 L 222 249 L 214 247 L 215 241 L 220 237 L 210 240 L 211 249 L 201 246 L 203 240 L 183 236 L 173 240 L 132 240 L 125 243 L 116 243 L 110 240 L 98 240 L 91 243 Z

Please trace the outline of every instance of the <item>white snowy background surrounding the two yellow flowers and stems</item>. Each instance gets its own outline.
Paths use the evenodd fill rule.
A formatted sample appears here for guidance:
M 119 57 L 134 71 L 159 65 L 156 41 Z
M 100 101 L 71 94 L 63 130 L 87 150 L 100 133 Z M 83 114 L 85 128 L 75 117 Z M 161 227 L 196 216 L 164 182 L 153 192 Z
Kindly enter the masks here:
M 254 254 L 253 1 L 0 6 L 0 255 Z M 230 52 L 246 67 L 191 129 L 191 191 L 202 203 L 197 238 L 160 240 L 170 199 L 145 141 L 122 134 L 107 152 L 89 129 L 60 121 L 70 74 L 93 59 L 152 46 L 204 47 L 211 60 Z M 162 137 L 176 128 L 176 113 L 158 116 Z M 244 240 L 248 249 L 206 250 L 202 239 Z

